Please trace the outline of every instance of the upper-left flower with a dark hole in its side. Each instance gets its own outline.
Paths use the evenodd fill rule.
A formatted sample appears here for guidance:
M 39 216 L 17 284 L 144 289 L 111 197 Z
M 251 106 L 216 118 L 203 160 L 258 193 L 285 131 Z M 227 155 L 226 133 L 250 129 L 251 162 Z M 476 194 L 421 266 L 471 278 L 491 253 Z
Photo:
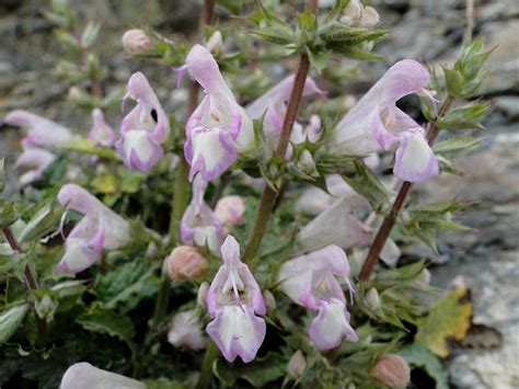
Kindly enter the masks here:
M 170 134 L 170 123 L 140 71 L 130 77 L 127 98 L 136 100 L 137 105 L 123 119 L 115 147 L 128 168 L 148 172 L 164 153 L 160 144 Z

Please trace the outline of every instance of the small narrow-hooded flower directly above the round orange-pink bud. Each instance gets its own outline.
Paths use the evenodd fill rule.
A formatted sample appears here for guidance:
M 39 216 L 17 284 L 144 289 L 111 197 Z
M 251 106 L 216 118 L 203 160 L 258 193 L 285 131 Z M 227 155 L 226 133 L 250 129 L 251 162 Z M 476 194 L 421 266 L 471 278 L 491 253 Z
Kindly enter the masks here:
M 204 203 L 207 182 L 197 174 L 193 181 L 193 199 L 181 220 L 181 238 L 186 244 L 208 247 L 219 251 L 223 228 L 209 206 Z

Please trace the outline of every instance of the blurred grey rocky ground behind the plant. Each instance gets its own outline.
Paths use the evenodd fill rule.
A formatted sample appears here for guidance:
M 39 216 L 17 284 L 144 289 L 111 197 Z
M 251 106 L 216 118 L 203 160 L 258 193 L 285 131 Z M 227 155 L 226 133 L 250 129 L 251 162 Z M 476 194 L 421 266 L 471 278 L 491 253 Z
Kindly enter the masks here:
M 323 1 L 324 2 L 324 1 Z M 9 110 L 28 108 L 49 118 L 88 129 L 83 116 L 67 108 L 62 98 L 67 85 L 49 76 L 59 47 L 51 26 L 42 18 L 41 1 L 0 2 L 0 117 Z M 79 3 L 79 2 L 78 2 Z M 102 45 L 108 48 L 120 32 L 151 22 L 160 30 L 188 30 L 196 18 L 196 2 L 147 1 L 139 5 L 94 0 L 81 5 L 85 18 L 95 18 L 108 31 Z M 460 46 L 464 25 L 464 2 L 457 0 L 371 1 L 379 9 L 392 36 L 377 50 L 389 64 L 404 57 L 430 64 L 452 61 Z M 172 15 L 172 18 L 166 18 Z M 486 119 L 484 147 L 461 161 L 464 176 L 442 175 L 415 190 L 423 201 L 457 197 L 481 201 L 466 211 L 462 221 L 474 230 L 443 233 L 439 255 L 420 245 L 405 253 L 429 259 L 434 283 L 448 287 L 464 283 L 474 304 L 472 348 L 458 347 L 447 363 L 450 379 L 459 388 L 519 387 L 519 3 L 516 0 L 475 0 L 474 34 L 497 46 L 491 57 L 493 76 L 483 88 L 494 110 Z M 140 65 L 129 60 L 118 47 L 106 59 L 106 83 L 123 84 Z M 365 76 L 376 79 L 384 66 L 369 68 Z M 170 108 L 182 99 L 174 90 L 175 79 L 168 69 L 149 68 L 161 79 L 159 96 Z M 153 78 L 152 77 L 152 78 Z M 18 134 L 0 131 L 0 155 L 8 163 L 16 153 Z

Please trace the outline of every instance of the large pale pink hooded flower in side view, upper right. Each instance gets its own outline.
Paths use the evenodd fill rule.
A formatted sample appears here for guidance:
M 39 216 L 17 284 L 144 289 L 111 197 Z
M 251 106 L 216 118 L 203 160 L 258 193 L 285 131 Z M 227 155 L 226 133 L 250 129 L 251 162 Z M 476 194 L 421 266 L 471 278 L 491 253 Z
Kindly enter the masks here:
M 397 144 L 393 170 L 396 176 L 422 182 L 438 174 L 438 161 L 424 129 L 396 107 L 403 96 L 424 91 L 428 80 L 427 70 L 414 60 L 393 65 L 337 124 L 330 151 L 337 156 L 368 156 Z

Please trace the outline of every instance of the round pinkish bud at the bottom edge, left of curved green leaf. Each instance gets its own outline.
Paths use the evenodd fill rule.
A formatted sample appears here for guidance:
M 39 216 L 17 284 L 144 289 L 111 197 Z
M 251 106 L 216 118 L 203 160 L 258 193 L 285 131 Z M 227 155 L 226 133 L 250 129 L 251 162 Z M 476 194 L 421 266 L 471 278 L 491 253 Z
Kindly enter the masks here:
M 407 362 L 399 355 L 382 355 L 370 371 L 371 377 L 390 388 L 405 388 L 411 379 Z

